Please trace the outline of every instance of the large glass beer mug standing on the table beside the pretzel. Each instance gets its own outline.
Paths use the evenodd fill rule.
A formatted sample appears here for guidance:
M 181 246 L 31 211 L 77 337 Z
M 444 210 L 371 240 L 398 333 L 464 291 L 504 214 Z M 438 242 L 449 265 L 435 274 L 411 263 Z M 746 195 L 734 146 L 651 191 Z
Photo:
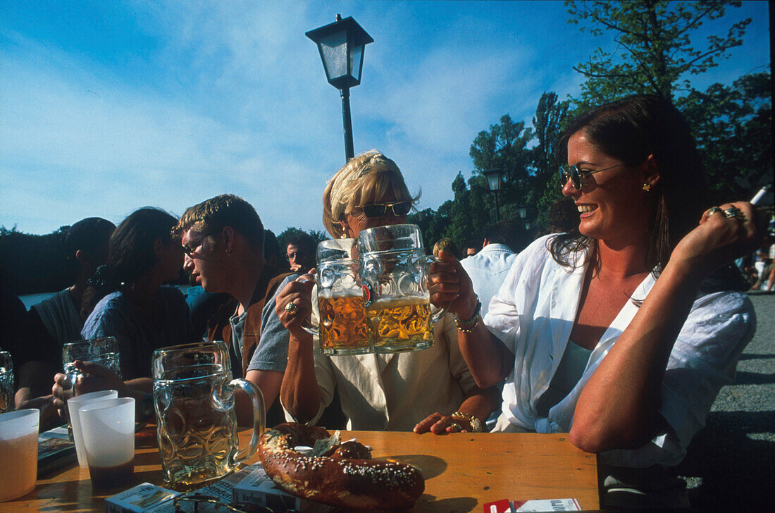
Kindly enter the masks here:
M 165 483 L 189 490 L 219 479 L 256 452 L 263 434 L 261 391 L 246 380 L 232 380 L 229 350 L 223 342 L 184 344 L 153 352 L 161 471 Z M 253 438 L 239 450 L 234 391 L 253 401 Z

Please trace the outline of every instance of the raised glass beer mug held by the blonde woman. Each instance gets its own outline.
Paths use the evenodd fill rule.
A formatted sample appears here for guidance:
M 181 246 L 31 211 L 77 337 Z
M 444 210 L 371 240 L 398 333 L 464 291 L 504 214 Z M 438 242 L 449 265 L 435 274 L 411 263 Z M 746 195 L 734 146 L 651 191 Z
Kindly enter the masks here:
M 319 326 L 317 330 L 305 329 L 319 336 L 323 354 L 363 354 L 372 350 L 355 244 L 355 239 L 324 240 L 318 244 Z

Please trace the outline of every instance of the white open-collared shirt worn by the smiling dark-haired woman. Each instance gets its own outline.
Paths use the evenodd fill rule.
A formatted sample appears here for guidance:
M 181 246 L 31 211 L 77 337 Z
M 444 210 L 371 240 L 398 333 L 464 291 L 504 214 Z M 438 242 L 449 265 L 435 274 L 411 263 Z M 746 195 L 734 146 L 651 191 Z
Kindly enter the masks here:
M 519 253 L 490 303 L 484 324 L 515 354 L 514 370 L 503 388 L 498 425 L 508 420 L 537 432 L 568 432 L 580 392 L 638 307 L 627 301 L 593 349 L 577 386 L 549 409 L 548 417 L 539 417 L 536 404 L 549 387 L 570 338 L 588 265 L 586 253 L 580 252 L 575 270 L 560 266 L 546 249 L 549 237 Z M 646 298 L 654 283 L 649 274 L 632 298 Z M 673 346 L 663 380 L 660 414 L 670 429 L 640 449 L 603 453 L 603 462 L 623 467 L 679 463 L 691 437 L 704 426 L 718 391 L 734 379 L 739 355 L 755 327 L 753 305 L 746 294 L 700 295 Z

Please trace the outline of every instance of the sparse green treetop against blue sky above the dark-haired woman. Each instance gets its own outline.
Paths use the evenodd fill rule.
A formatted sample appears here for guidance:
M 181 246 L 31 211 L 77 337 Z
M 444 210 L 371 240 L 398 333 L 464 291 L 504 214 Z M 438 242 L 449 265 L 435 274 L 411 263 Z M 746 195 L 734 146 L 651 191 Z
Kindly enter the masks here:
M 740 2 L 608 2 L 596 0 L 566 5 L 569 23 L 587 23 L 582 32 L 601 36 L 615 34 L 617 49 L 598 48 L 574 70 L 586 77 L 580 104 L 600 105 L 623 95 L 649 93 L 673 100 L 676 91 L 689 91 L 689 74 L 701 74 L 728 58 L 727 50 L 742 44 L 751 19 L 732 23 L 725 36 L 708 36 L 706 46 L 696 48 L 697 29 L 704 21 L 725 15 Z

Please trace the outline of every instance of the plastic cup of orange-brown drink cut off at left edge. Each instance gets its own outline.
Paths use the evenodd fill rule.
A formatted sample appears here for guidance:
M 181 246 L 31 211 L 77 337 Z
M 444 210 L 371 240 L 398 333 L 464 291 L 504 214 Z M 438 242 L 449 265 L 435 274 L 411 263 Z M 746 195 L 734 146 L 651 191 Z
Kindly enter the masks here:
M 40 410 L 0 414 L 0 502 L 22 497 L 35 489 L 38 473 L 38 426 Z

